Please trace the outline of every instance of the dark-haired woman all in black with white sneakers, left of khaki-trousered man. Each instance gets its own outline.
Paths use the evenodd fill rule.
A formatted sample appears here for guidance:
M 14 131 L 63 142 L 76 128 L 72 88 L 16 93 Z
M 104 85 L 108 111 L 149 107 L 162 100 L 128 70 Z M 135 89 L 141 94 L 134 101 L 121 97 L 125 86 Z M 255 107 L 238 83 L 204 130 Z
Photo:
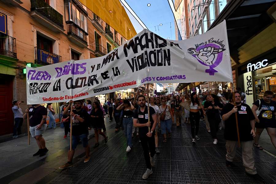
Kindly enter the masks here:
M 204 110 L 207 114 L 207 119 L 210 125 L 211 135 L 214 139 L 213 144 L 217 144 L 217 131 L 221 121 L 219 110 L 222 110 L 223 105 L 215 94 L 209 95 L 209 102 L 204 103 Z

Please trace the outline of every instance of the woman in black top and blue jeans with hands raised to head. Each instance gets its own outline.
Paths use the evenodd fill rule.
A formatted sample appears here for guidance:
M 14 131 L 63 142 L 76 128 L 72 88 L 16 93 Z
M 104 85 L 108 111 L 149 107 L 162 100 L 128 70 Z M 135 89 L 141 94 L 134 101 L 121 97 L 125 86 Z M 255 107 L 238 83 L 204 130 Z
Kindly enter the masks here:
M 124 100 L 121 105 L 117 107 L 117 110 L 123 109 L 123 126 L 125 136 L 127 137 L 128 147 L 126 152 L 129 152 L 132 148 L 132 127 L 133 127 L 133 105 L 128 101 Z

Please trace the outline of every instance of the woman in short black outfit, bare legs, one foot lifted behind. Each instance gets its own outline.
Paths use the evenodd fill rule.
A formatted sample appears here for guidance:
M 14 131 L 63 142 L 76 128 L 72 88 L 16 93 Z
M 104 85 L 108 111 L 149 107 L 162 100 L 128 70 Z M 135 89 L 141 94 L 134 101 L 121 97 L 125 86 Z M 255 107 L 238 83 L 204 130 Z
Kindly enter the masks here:
M 108 139 L 108 137 L 105 136 L 105 134 L 102 132 L 103 112 L 100 107 L 100 104 L 97 101 L 93 103 L 93 109 L 90 113 L 90 116 L 92 117 L 92 127 L 94 128 L 95 138 L 96 138 L 96 143 L 93 148 L 97 148 L 100 145 L 99 134 L 105 138 L 105 143 L 107 143 L 107 139 Z

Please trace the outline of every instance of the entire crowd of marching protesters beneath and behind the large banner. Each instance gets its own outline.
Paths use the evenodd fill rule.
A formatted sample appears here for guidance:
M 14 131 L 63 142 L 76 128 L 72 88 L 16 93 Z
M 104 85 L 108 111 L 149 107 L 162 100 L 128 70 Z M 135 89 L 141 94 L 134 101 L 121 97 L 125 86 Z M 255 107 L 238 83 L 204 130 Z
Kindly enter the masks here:
M 270 136 L 271 142 L 276 148 L 276 103 L 272 101 L 274 93 L 272 91 L 264 92 L 264 98 L 256 100 L 252 108 L 246 104 L 245 94 L 236 88 L 234 93 L 219 91 L 217 94 L 211 94 L 205 91 L 202 94 L 185 90 L 185 95 L 169 94 L 150 97 L 149 104 L 147 98 L 136 93 L 132 99 L 107 99 L 103 104 L 98 98 L 94 102 L 90 100 L 76 100 L 60 104 L 60 118 L 64 127 L 63 139 L 72 136 L 72 150 L 68 151 L 68 162 L 61 169 L 72 166 L 72 159 L 75 148 L 80 142 L 84 147 L 86 157 L 84 163 L 90 160 L 90 146 L 88 144 L 88 131 L 94 129 L 96 143 L 93 148 L 99 146 L 99 135 L 104 137 L 105 144 L 108 137 L 105 135 L 105 119 L 109 122 L 115 120 L 115 132 L 122 129 L 126 137 L 126 152 L 132 150 L 133 137 L 139 136 L 140 143 L 144 151 L 146 161 L 146 172 L 142 178 L 148 178 L 152 173 L 152 166 L 155 165 L 154 155 L 160 153 L 158 148 L 158 132 L 163 136 L 160 140 L 164 144 L 171 137 L 172 124 L 176 127 L 182 127 L 182 117 L 185 123 L 190 124 L 191 144 L 195 145 L 200 141 L 198 135 L 201 122 L 205 123 L 206 129 L 213 138 L 213 144 L 218 144 L 219 138 L 217 132 L 224 129 L 224 138 L 226 139 L 226 166 L 236 167 L 233 159 L 237 147 L 237 128 L 236 117 L 238 119 L 240 143 L 242 146 L 243 166 L 247 175 L 256 180 L 263 181 L 263 178 L 257 174 L 253 149 L 263 149 L 259 144 L 259 138 L 264 128 Z M 234 95 L 234 96 L 233 96 Z M 47 104 L 47 108 L 40 104 L 32 105 L 25 110 L 23 114 L 20 108 L 20 101 L 13 102 L 13 112 L 15 118 L 15 128 L 13 136 L 21 134 L 21 125 L 23 118 L 30 116 L 30 132 L 35 138 L 39 150 L 33 155 L 43 156 L 48 149 L 42 136 L 47 124 L 46 117 L 49 116 L 49 128 L 56 128 L 54 114 L 56 113 L 52 104 Z M 73 110 L 71 111 L 71 105 Z M 148 110 L 149 108 L 149 110 Z M 148 114 L 149 111 L 149 114 Z M 72 123 L 71 122 L 72 118 Z M 150 121 L 148 121 L 150 120 Z M 70 128 L 72 126 L 72 135 Z

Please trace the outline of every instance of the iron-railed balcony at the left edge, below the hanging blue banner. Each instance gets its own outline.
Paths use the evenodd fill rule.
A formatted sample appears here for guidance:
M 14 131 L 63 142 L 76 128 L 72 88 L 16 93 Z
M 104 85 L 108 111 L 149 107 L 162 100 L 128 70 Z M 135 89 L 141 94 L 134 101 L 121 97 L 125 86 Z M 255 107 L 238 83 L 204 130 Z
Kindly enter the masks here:
M 15 38 L 0 33 L 0 55 L 17 59 Z

